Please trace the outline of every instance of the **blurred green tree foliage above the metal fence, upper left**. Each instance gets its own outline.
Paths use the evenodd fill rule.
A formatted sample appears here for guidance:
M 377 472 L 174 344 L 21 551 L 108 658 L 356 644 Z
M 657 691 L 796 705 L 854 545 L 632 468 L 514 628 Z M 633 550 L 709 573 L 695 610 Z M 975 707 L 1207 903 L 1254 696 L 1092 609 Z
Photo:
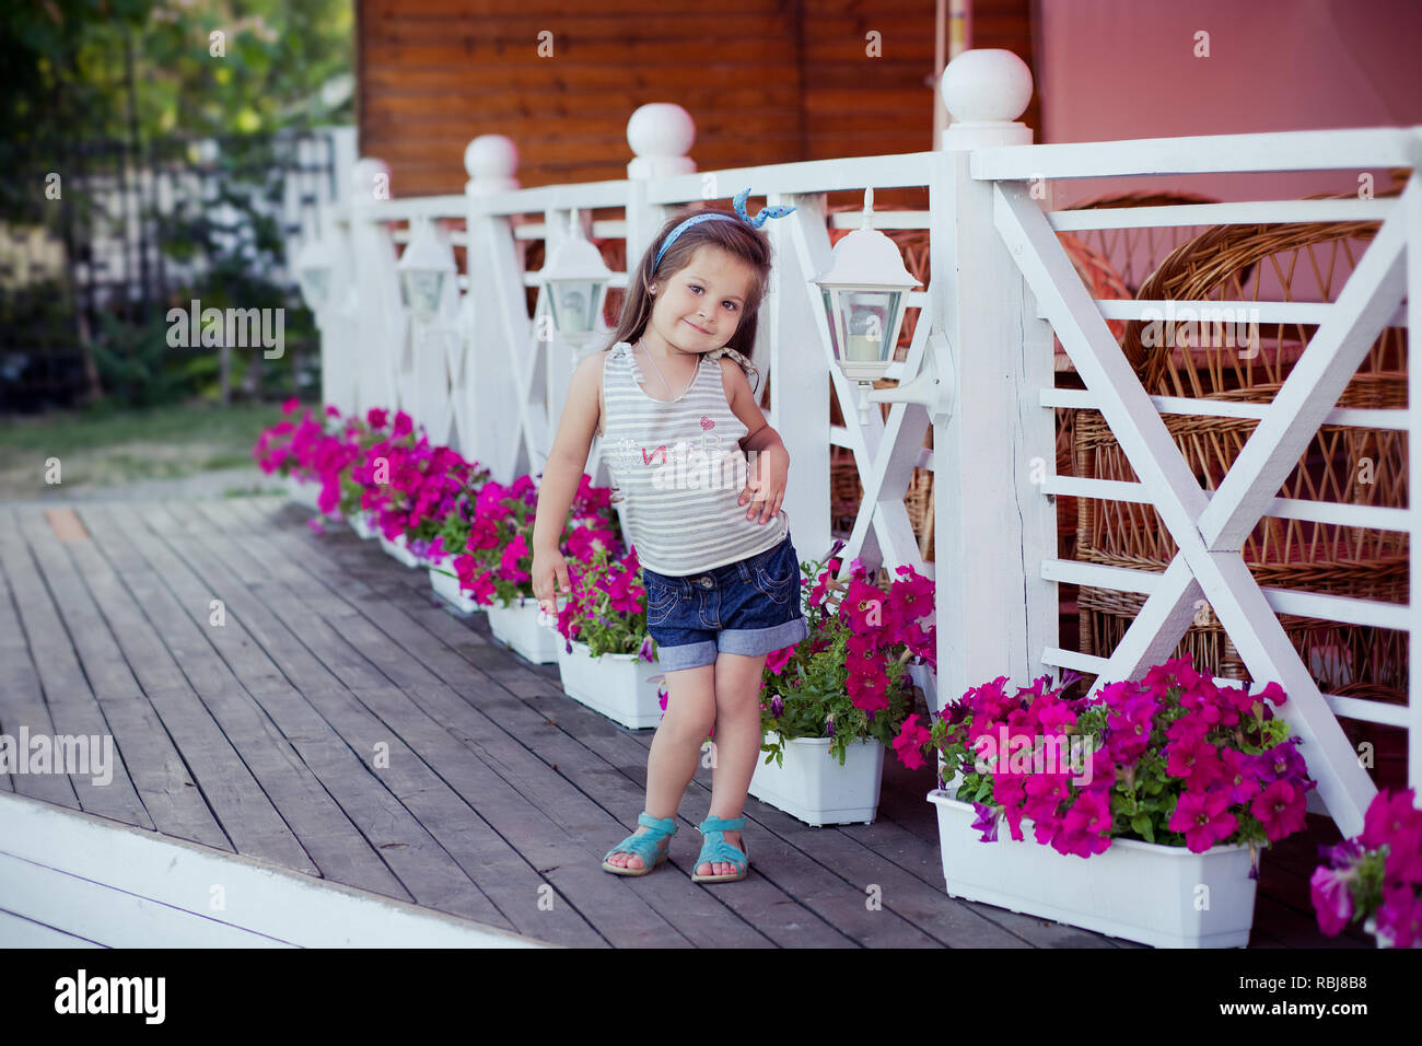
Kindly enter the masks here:
M 353 27 L 347 0 L 4 4 L 0 141 L 54 127 L 117 138 L 134 121 L 145 139 L 350 122 L 348 83 L 331 88 L 353 71 Z

